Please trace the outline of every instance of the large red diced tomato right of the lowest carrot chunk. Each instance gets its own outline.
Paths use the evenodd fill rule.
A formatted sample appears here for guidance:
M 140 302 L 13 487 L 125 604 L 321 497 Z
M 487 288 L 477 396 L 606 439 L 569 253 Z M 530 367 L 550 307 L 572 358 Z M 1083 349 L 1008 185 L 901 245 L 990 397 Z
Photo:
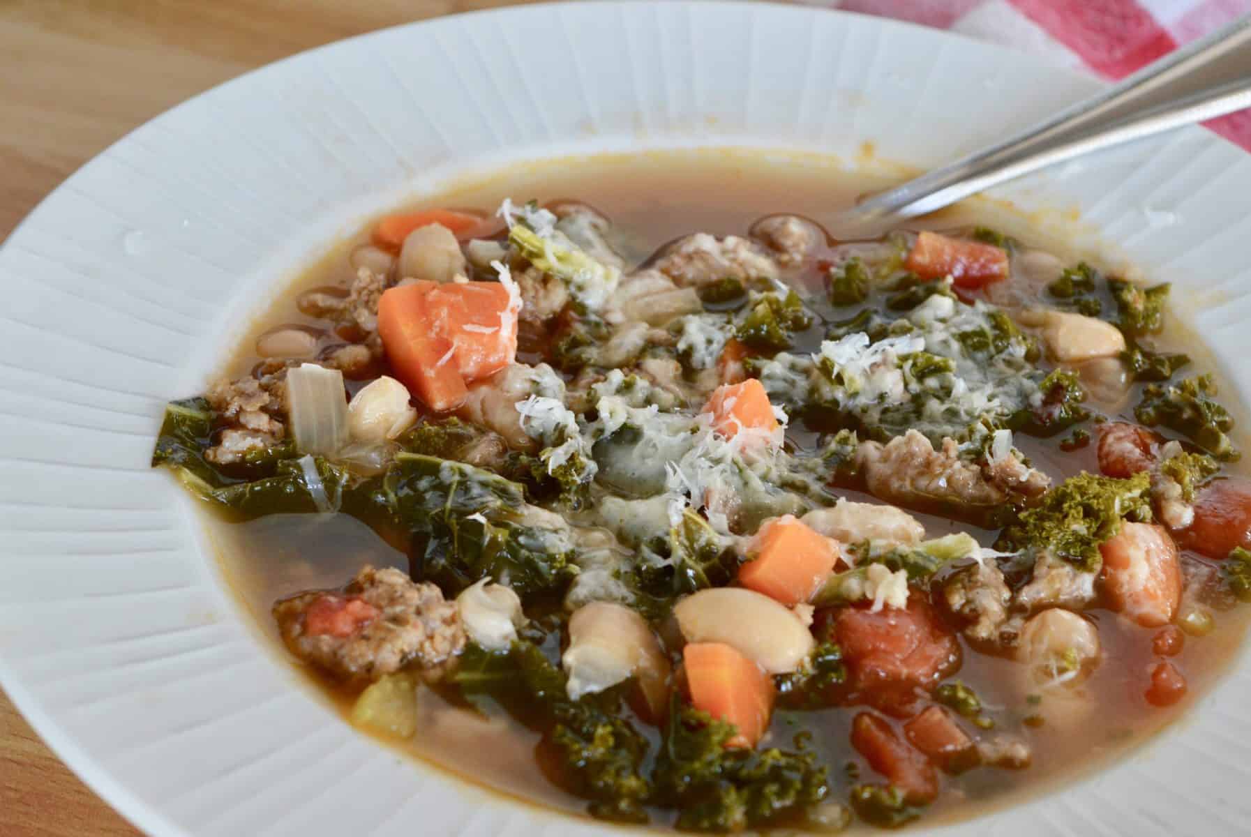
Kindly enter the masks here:
M 911 713 L 918 689 L 933 688 L 960 668 L 955 634 L 917 597 L 903 611 L 842 607 L 833 616 L 833 634 L 862 699 L 897 717 Z

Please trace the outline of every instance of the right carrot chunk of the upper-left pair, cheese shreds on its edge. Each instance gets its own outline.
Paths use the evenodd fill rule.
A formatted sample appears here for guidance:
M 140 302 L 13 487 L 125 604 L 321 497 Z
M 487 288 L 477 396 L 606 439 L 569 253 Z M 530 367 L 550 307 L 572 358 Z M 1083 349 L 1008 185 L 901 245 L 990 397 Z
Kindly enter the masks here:
M 465 382 L 499 372 L 517 357 L 517 317 L 508 317 L 508 289 L 498 282 L 437 285 L 425 298 L 434 333 L 455 347 Z

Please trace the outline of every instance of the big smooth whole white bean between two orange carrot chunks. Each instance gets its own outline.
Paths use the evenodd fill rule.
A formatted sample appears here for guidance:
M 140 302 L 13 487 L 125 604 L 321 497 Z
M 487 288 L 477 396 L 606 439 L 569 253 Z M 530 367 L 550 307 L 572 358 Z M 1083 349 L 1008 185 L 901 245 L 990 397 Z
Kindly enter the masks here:
M 687 642 L 723 642 L 771 674 L 794 671 L 816 644 L 789 608 L 738 587 L 693 593 L 678 602 L 673 614 Z

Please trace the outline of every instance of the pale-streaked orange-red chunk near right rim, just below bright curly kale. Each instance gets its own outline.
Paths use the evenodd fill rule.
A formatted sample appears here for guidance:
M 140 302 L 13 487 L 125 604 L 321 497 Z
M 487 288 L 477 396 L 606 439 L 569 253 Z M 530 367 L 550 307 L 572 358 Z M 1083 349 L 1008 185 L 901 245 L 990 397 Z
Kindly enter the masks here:
M 1100 552 L 1100 579 L 1111 609 L 1143 628 L 1172 622 L 1181 604 L 1181 558 L 1163 527 L 1122 523 L 1121 532 Z

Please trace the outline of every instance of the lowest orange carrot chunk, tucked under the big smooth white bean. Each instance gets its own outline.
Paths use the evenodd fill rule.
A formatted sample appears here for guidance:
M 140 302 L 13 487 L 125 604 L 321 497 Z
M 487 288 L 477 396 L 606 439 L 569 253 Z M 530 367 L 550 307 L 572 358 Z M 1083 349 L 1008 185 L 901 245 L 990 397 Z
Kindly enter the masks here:
M 773 681 L 738 651 L 722 642 L 693 642 L 682 652 L 691 703 L 738 734 L 727 747 L 754 747 L 769 726 Z

